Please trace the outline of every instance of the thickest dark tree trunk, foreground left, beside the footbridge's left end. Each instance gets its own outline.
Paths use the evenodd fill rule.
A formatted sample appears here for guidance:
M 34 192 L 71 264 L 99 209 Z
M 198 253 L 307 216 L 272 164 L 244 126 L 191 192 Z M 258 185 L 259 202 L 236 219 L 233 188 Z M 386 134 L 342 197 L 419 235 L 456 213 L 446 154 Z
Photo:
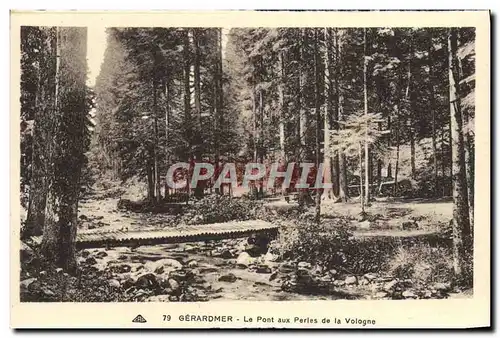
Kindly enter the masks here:
M 80 174 L 84 155 L 86 118 L 87 29 L 57 28 L 54 158 L 45 208 L 42 252 L 45 258 L 74 272 Z

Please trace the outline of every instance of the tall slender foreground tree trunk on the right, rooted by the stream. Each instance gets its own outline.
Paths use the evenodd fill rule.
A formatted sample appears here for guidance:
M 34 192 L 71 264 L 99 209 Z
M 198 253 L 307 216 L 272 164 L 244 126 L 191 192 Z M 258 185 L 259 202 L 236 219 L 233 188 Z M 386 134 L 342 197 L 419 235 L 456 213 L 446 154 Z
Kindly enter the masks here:
M 448 35 L 450 121 L 452 135 L 453 173 L 453 270 L 455 275 L 466 282 L 467 268 L 472 258 L 472 238 L 467 201 L 467 179 L 465 168 L 465 143 L 463 136 L 460 90 L 458 87 L 457 30 L 450 28 Z M 468 282 L 471 282 L 468 281 Z

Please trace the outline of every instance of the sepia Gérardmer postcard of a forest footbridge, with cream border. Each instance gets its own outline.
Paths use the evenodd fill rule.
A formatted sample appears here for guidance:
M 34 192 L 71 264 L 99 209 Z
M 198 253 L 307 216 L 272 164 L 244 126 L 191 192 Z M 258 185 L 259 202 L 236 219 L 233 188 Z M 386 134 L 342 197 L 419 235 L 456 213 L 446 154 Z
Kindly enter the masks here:
M 490 326 L 490 13 L 11 13 L 11 326 Z

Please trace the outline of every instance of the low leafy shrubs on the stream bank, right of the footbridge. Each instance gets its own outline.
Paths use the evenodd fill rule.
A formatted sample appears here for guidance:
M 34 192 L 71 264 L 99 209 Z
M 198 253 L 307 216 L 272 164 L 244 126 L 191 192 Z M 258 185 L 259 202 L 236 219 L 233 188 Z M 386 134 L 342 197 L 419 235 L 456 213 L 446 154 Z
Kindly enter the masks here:
M 415 278 L 423 283 L 450 281 L 450 249 L 425 238 L 356 238 L 342 218 L 316 225 L 311 213 L 282 221 L 278 241 L 285 260 L 306 261 L 348 274 L 368 272 Z

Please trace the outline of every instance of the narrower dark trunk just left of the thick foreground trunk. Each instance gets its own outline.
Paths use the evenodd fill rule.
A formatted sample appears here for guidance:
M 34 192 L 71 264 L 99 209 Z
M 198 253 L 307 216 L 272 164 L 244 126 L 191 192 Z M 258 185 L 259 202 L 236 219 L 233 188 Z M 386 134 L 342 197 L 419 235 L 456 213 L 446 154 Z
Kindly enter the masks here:
M 28 202 L 26 229 L 23 237 L 40 236 L 45 224 L 45 206 L 47 189 L 51 176 L 48 166 L 52 161 L 52 143 L 50 139 L 56 118 L 55 88 L 56 72 L 59 66 L 57 58 L 57 37 L 55 28 L 43 28 L 45 41 L 40 51 L 40 81 L 38 84 L 38 104 L 35 107 L 34 129 L 32 138 L 31 179 Z

